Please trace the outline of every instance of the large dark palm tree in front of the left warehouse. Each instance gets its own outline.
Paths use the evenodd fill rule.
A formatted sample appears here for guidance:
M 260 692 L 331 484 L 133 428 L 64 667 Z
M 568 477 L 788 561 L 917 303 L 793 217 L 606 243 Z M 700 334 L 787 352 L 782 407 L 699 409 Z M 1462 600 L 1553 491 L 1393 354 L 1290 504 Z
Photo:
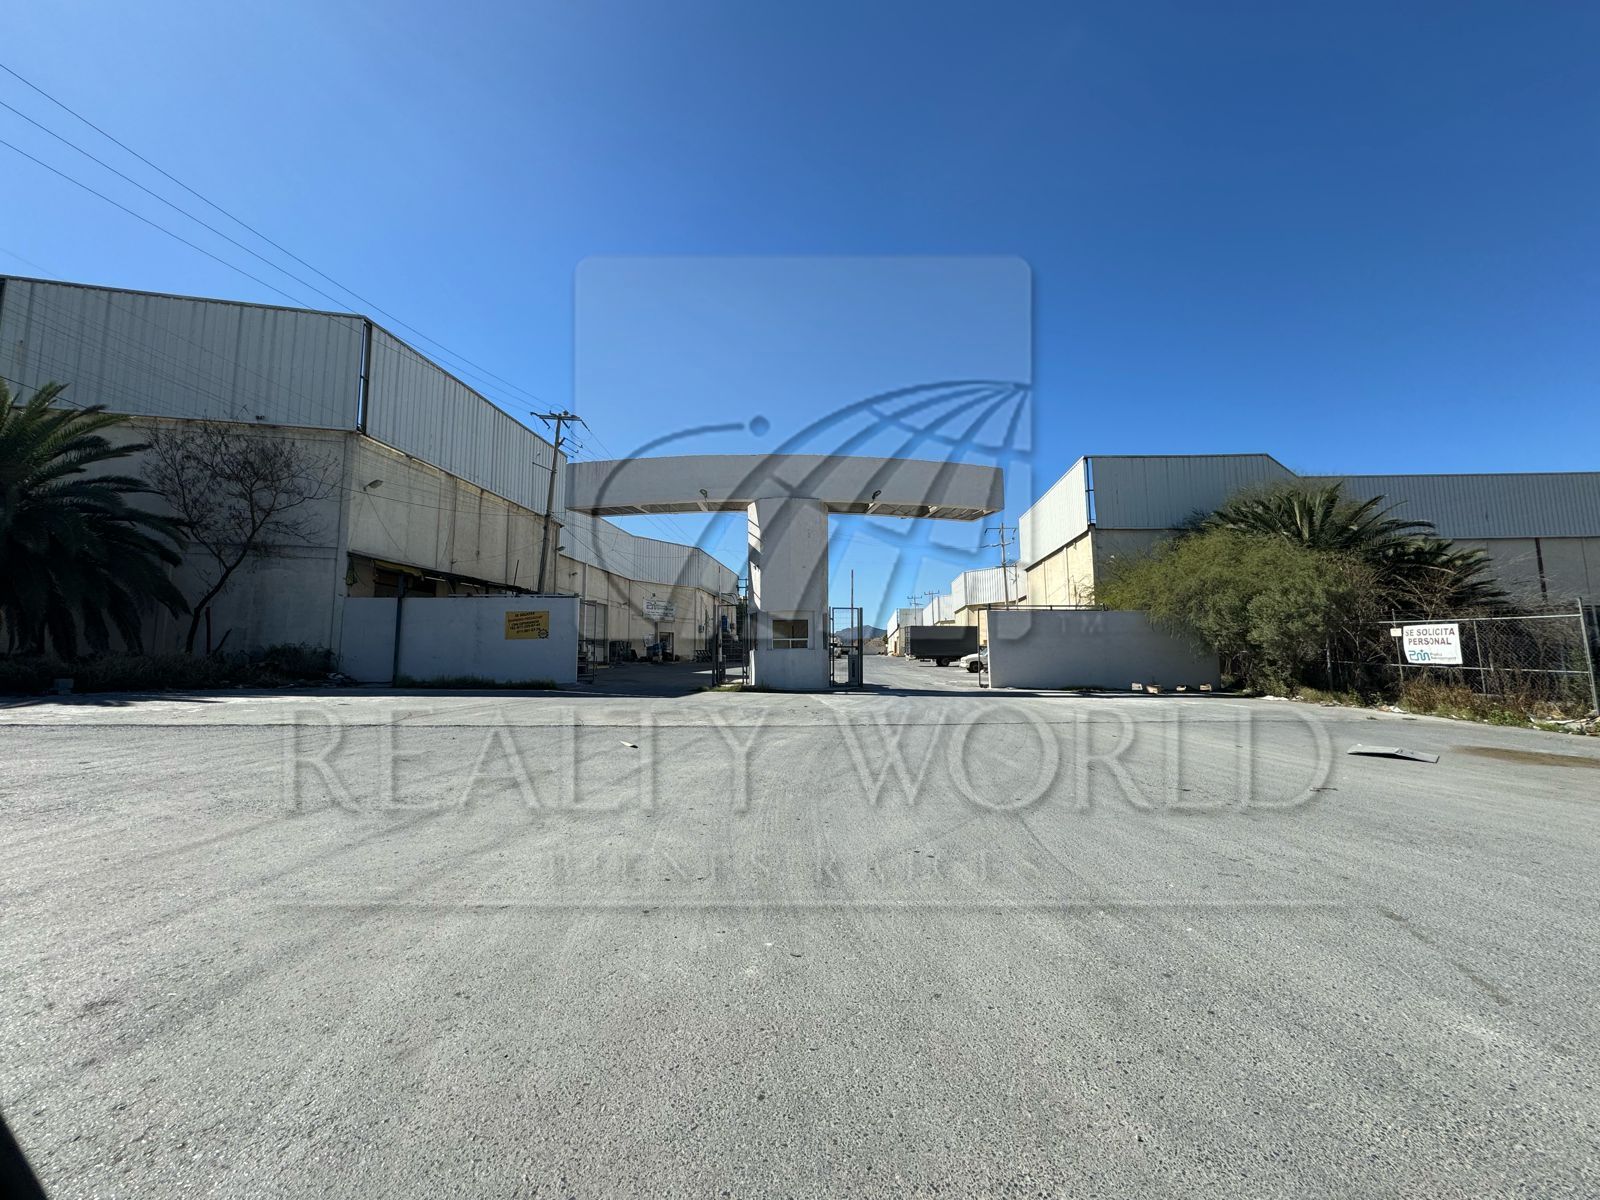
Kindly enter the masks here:
M 72 658 L 112 629 L 139 648 L 139 618 L 154 600 L 187 611 L 166 568 L 182 538 L 165 517 L 128 506 L 149 488 L 130 475 L 90 474 L 128 458 L 101 430 L 123 424 L 99 405 L 53 406 L 66 384 L 45 384 L 27 403 L 0 381 L 0 630 L 11 651 L 46 648 Z

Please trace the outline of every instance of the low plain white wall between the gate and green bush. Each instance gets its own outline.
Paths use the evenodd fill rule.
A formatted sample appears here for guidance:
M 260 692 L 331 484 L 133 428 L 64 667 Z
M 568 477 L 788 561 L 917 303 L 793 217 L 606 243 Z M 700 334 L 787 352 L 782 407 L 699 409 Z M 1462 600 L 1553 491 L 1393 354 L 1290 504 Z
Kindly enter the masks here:
M 1155 629 L 1144 613 L 995 608 L 989 683 L 995 688 L 1117 688 L 1221 683 L 1218 661 Z

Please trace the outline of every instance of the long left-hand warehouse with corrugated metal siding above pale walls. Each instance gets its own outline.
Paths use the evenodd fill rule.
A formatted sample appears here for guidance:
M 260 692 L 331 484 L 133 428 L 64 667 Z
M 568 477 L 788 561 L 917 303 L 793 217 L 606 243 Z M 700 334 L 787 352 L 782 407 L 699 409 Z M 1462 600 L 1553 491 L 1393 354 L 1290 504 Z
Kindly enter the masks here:
M 293 440 L 325 472 L 314 533 L 253 557 L 214 602 L 213 648 L 338 651 L 347 597 L 531 590 L 552 470 L 544 590 L 579 597 L 592 658 L 653 643 L 688 656 L 738 587 L 696 547 L 565 512 L 550 442 L 365 317 L 0 277 L 0 378 L 21 395 L 64 382 L 72 403 L 126 413 L 130 442 L 227 422 Z M 190 597 L 195 571 L 178 571 Z M 174 648 L 186 627 L 152 613 L 147 646 Z

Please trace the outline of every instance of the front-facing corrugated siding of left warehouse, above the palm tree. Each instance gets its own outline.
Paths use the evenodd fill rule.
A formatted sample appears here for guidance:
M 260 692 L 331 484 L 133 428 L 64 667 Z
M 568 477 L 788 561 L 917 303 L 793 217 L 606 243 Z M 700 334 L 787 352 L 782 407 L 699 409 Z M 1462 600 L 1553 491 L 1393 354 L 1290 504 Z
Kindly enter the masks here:
M 0 374 L 136 416 L 354 429 L 362 322 L 5 280 Z

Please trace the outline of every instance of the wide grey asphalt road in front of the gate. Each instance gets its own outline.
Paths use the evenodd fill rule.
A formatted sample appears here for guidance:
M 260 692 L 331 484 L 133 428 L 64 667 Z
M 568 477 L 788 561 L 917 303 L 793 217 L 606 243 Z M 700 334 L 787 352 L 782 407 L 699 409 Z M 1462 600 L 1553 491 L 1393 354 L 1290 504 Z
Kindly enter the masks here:
M 1600 1194 L 1600 744 L 867 666 L 0 709 L 24 1150 L 58 1197 Z

